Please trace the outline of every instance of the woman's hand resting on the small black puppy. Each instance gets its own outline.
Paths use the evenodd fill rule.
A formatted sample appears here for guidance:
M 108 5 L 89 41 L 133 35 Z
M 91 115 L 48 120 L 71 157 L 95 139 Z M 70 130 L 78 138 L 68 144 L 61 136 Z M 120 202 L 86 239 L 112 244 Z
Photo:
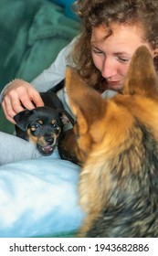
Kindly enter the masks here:
M 31 110 L 43 106 L 39 92 L 28 82 L 24 80 L 14 80 L 8 88 L 5 89 L 5 97 L 2 107 L 5 117 L 11 123 L 15 123 L 13 117 L 17 112 L 21 112 L 24 108 Z

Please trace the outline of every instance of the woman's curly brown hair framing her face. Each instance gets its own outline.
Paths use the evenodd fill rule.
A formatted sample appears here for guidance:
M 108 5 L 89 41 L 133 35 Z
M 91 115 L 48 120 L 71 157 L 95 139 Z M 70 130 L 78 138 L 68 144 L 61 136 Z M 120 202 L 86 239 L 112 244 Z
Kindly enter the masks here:
M 112 24 L 138 24 L 142 27 L 143 40 L 151 48 L 158 48 L 158 0 L 78 0 L 74 10 L 81 20 L 81 33 L 73 49 L 72 57 L 76 69 L 83 80 L 98 91 L 104 78 L 95 67 L 90 49 L 90 37 L 93 27 L 105 25 L 112 34 Z M 154 59 L 158 69 L 158 59 Z

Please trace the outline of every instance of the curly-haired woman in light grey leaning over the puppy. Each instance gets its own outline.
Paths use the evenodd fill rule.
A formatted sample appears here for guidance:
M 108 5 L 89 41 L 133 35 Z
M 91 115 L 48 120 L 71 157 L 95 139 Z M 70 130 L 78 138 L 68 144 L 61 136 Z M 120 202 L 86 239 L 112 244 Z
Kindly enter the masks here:
M 31 84 L 13 80 L 2 91 L 2 106 L 10 122 L 14 123 L 14 115 L 23 110 L 22 104 L 27 109 L 34 108 L 32 101 L 42 106 L 38 91 L 47 91 L 62 80 L 67 65 L 75 67 L 83 80 L 100 93 L 105 92 L 106 96 L 121 91 L 136 48 L 142 45 L 149 48 L 157 69 L 157 0 L 78 0 L 75 8 L 82 22 L 79 37 L 64 48 L 49 69 Z M 70 112 L 65 89 L 58 92 L 58 97 Z M 15 140 L 14 145 L 12 140 Z M 1 151 L 4 155 L 0 164 L 8 162 L 4 154 L 8 148 L 11 155 L 9 162 L 40 157 L 32 144 L 19 138 L 13 139 L 12 135 L 0 133 L 0 141 L 0 155 Z

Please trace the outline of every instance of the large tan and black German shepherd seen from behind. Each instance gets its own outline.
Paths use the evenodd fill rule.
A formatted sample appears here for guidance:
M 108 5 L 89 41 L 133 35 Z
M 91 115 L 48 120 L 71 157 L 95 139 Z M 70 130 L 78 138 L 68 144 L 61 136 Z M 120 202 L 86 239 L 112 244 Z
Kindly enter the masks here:
M 112 99 L 69 68 L 66 86 L 84 163 L 79 237 L 158 237 L 158 78 L 148 49 L 137 49 Z

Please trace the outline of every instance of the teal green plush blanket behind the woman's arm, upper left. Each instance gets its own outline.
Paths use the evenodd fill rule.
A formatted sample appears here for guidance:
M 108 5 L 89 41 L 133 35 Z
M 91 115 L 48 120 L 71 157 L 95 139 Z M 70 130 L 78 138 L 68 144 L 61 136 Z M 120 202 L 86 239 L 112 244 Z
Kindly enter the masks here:
M 47 0 L 0 0 L 0 91 L 15 78 L 31 81 L 79 34 L 79 23 Z M 0 131 L 12 133 L 0 108 Z

